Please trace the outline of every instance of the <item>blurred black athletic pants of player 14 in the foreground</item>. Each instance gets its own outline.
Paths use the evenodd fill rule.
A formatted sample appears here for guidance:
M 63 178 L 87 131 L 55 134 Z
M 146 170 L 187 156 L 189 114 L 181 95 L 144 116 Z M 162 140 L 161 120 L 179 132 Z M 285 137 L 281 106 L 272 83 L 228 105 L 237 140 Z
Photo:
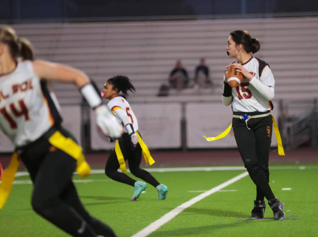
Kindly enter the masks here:
M 71 137 L 65 129 L 57 129 Z M 33 209 L 73 236 L 116 236 L 110 227 L 90 216 L 83 207 L 71 179 L 76 160 L 48 141 L 55 131 L 56 128 L 51 128 L 35 142 L 17 149 L 34 184 Z

